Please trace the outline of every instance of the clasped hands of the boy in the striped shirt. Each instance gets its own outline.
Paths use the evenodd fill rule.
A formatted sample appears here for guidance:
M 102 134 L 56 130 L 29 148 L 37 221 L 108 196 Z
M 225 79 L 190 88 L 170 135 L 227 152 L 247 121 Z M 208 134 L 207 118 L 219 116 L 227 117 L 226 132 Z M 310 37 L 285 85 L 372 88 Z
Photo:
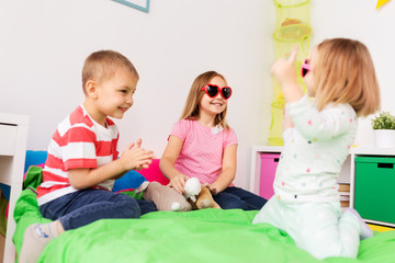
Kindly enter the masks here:
M 142 142 L 142 139 L 137 139 L 136 144 L 132 142 L 122 152 L 120 160 L 126 171 L 148 168 L 153 162 L 153 158 L 155 158 L 154 152 L 143 149 Z

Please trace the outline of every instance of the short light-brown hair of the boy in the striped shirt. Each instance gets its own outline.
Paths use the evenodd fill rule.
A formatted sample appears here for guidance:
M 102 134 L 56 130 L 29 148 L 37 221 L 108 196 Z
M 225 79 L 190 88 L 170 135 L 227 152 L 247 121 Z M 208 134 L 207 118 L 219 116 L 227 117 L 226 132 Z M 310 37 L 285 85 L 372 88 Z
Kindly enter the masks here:
M 87 57 L 82 67 L 82 90 L 86 93 L 84 87 L 89 80 L 101 82 L 114 77 L 117 70 L 126 70 L 136 80 L 138 73 L 124 55 L 114 50 L 99 50 L 92 53 Z

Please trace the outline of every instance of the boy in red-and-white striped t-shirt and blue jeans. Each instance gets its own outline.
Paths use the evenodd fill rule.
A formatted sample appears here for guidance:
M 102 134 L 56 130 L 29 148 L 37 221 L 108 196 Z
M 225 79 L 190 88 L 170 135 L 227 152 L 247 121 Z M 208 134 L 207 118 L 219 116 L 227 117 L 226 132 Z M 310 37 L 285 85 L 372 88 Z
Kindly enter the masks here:
M 53 135 L 37 187 L 40 211 L 54 221 L 26 228 L 19 262 L 36 262 L 45 245 L 64 231 L 102 218 L 140 217 L 136 199 L 111 190 L 114 179 L 148 168 L 154 155 L 140 148 L 138 139 L 117 159 L 119 130 L 108 117 L 123 117 L 133 105 L 137 81 L 133 64 L 116 52 L 100 50 L 86 59 L 84 102 Z

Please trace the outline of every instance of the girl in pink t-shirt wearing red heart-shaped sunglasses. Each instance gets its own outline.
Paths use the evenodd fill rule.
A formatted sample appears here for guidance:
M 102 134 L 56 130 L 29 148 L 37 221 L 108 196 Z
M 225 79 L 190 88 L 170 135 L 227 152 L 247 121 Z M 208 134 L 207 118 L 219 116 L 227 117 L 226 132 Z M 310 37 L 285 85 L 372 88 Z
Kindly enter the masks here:
M 198 178 L 224 209 L 260 209 L 266 199 L 236 187 L 237 137 L 226 123 L 232 89 L 225 78 L 207 71 L 192 83 L 181 118 L 173 126 L 160 159 L 169 186 L 184 193 L 190 178 Z

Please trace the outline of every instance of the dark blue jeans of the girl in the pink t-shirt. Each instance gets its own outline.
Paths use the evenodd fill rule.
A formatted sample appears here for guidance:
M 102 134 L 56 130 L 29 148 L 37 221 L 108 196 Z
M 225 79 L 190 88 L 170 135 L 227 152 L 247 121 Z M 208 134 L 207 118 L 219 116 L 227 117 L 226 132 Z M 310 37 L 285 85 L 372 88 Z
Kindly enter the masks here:
M 268 202 L 263 197 L 244 188 L 230 186 L 213 195 L 214 201 L 223 209 L 260 210 Z

